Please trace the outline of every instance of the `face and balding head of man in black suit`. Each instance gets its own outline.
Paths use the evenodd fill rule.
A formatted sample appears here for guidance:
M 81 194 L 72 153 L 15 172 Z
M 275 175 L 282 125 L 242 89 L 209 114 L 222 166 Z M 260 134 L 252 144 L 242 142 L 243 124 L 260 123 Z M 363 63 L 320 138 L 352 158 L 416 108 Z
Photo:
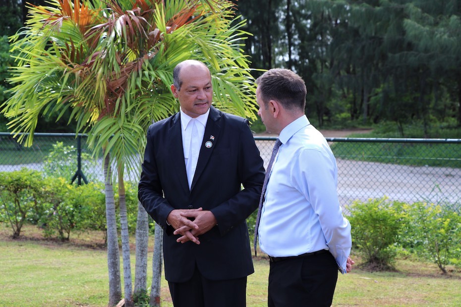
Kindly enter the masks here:
M 182 81 L 178 91 L 172 85 L 172 93 L 178 99 L 181 109 L 192 118 L 205 114 L 211 107 L 213 87 L 209 70 L 199 64 L 181 68 L 179 79 Z

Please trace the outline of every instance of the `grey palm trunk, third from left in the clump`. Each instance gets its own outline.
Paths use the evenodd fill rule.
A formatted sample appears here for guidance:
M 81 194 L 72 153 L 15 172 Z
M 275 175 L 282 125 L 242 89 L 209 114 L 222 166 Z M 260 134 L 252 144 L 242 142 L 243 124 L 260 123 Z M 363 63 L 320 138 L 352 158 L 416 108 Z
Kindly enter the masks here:
M 134 271 L 134 297 L 147 293 L 147 247 L 149 242 L 149 215 L 138 201 L 136 219 L 136 264 Z

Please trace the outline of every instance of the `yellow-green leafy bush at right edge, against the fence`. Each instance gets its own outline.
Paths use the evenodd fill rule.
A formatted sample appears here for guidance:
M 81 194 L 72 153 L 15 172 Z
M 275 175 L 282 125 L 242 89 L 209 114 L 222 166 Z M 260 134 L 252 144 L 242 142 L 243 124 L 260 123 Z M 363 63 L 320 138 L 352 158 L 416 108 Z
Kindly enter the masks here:
M 437 264 L 443 273 L 446 266 L 461 265 L 461 216 L 449 205 L 418 202 L 405 205 L 409 223 L 403 247 Z

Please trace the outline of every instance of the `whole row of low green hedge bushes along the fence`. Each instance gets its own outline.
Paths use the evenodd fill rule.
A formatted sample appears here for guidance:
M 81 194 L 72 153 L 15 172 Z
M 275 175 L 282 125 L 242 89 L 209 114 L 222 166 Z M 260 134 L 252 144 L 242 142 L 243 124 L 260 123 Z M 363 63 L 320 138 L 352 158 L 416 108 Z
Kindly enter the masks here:
M 137 186 L 127 183 L 125 190 L 128 228 L 133 233 Z M 115 193 L 118 207 L 117 201 Z M 433 261 L 444 273 L 447 265 L 461 268 L 460 204 L 406 204 L 382 198 L 356 201 L 347 209 L 353 250 L 369 268 L 392 268 L 398 253 Z M 9 223 L 13 238 L 26 222 L 43 228 L 45 237 L 61 240 L 68 240 L 73 230 L 101 230 L 106 236 L 105 212 L 102 183 L 76 186 L 30 169 L 0 172 L 0 222 Z M 250 235 L 255 214 L 247 219 Z

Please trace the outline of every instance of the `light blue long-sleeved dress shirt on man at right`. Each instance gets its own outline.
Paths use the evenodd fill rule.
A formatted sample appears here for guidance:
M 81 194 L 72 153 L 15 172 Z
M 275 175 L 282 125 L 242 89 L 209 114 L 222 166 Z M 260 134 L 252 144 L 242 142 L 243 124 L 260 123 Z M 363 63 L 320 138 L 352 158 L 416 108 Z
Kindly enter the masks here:
M 261 250 L 273 257 L 329 250 L 345 273 L 352 243 L 336 190 L 335 156 L 305 115 L 279 139 L 261 212 Z

